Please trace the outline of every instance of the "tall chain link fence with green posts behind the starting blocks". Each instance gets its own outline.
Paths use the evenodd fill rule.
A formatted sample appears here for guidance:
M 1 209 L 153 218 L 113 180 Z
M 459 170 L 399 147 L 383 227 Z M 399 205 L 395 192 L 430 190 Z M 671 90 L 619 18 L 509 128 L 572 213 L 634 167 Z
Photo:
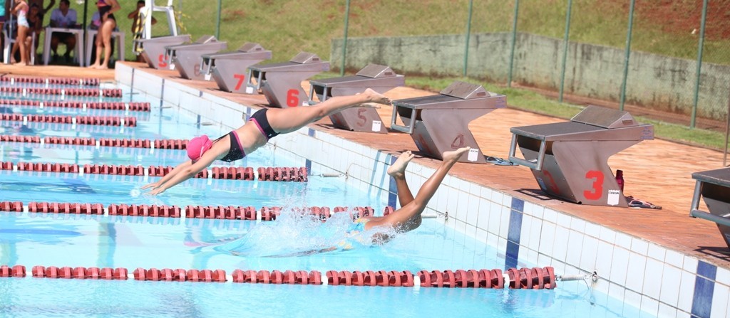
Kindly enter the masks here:
M 177 1 L 193 37 L 255 41 L 272 61 L 306 51 L 337 71 L 378 63 L 686 127 L 725 132 L 729 120 L 730 1 L 219 0 L 220 12 L 205 2 Z M 299 15 L 275 19 L 286 12 Z

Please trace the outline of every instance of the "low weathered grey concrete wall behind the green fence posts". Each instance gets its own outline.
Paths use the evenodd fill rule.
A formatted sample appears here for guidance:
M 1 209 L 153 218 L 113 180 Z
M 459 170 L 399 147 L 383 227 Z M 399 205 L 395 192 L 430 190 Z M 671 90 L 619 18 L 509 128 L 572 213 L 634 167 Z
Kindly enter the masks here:
M 389 65 L 401 73 L 461 76 L 463 35 L 350 38 L 347 68 L 368 63 Z M 469 41 L 469 76 L 507 82 L 511 33 L 473 34 Z M 563 41 L 518 33 L 512 80 L 558 90 Z M 342 39 L 333 39 L 331 65 L 342 63 Z M 569 94 L 618 101 L 624 50 L 570 43 L 564 90 Z M 696 61 L 631 52 L 626 102 L 690 114 L 694 105 Z M 698 116 L 724 120 L 730 98 L 730 66 L 702 64 Z

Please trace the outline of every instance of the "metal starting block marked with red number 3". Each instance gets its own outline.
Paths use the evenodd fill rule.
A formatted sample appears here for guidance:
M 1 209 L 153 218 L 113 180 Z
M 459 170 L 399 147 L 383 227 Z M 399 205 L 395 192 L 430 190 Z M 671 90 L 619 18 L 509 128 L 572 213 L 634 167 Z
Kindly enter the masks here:
M 588 106 L 570 122 L 512 127 L 509 160 L 529 167 L 542 191 L 569 202 L 628 207 L 608 158 L 642 140 L 654 126 L 626 111 Z M 519 147 L 524 159 L 515 156 Z

